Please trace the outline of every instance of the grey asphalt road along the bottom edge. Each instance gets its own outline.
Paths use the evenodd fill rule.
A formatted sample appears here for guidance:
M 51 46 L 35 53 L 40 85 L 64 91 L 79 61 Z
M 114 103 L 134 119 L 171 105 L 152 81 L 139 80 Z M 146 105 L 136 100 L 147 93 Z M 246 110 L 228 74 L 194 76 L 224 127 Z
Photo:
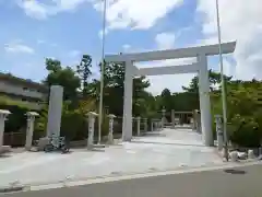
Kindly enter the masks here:
M 261 197 L 262 165 L 143 177 L 70 188 L 7 194 L 4 197 Z M 1 196 L 1 195 L 0 195 Z

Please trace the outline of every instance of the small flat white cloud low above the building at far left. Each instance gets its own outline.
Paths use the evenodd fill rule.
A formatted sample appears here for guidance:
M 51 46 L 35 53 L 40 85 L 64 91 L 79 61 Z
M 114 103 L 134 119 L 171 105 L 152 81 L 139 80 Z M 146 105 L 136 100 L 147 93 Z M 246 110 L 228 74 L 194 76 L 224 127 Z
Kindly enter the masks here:
M 15 54 L 17 53 L 34 54 L 35 53 L 35 50 L 32 47 L 24 45 L 20 42 L 5 44 L 4 49 L 7 53 L 15 53 Z

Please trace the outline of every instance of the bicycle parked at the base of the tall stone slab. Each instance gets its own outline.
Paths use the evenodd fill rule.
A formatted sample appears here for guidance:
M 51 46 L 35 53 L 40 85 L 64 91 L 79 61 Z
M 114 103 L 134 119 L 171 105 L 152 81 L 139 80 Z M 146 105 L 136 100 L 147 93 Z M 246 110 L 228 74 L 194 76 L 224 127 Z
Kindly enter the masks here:
M 45 152 L 61 151 L 62 153 L 69 152 L 69 144 L 66 142 L 64 137 L 51 136 L 49 143 L 44 148 Z

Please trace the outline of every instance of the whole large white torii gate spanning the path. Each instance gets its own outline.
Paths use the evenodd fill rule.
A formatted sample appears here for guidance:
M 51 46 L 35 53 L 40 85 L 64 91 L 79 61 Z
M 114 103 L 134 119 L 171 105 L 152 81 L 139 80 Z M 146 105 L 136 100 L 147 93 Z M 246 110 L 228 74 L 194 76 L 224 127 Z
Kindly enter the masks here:
M 235 51 L 236 42 L 222 44 L 222 54 L 231 54 Z M 218 45 L 199 46 L 191 48 L 156 50 L 138 54 L 106 55 L 107 62 L 124 62 L 124 99 L 123 99 L 123 124 L 122 139 L 130 141 L 132 139 L 132 93 L 133 77 L 135 76 L 163 76 L 178 73 L 198 73 L 200 92 L 200 111 L 202 135 L 205 146 L 213 146 L 212 115 L 210 102 L 210 80 L 207 68 L 207 56 L 219 54 Z M 136 68 L 134 62 L 154 61 L 165 59 L 191 58 L 196 57 L 196 62 L 183 66 L 168 66 L 154 68 Z

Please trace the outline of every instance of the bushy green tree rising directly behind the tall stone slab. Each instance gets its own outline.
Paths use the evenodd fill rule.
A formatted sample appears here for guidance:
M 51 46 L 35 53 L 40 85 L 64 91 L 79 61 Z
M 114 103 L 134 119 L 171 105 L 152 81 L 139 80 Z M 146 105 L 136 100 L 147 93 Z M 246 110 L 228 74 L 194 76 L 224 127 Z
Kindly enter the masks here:
M 46 59 L 46 69 L 48 76 L 44 83 L 50 85 L 63 86 L 63 99 L 75 101 L 78 97 L 78 89 L 80 88 L 80 78 L 70 67 L 62 67 L 59 60 Z

